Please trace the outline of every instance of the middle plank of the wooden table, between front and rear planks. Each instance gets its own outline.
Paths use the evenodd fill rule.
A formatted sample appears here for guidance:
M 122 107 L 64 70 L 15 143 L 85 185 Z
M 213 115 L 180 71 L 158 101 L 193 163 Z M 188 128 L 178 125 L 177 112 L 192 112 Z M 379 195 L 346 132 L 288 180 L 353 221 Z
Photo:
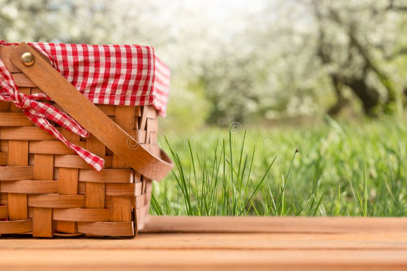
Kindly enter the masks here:
M 87 210 L 87 209 L 79 209 Z M 56 212 L 60 212 L 56 210 Z M 53 214 L 53 216 L 55 216 Z M 60 216 L 58 214 L 58 216 Z M 16 239 L 2 239 L 0 249 L 143 249 L 143 250 L 407 250 L 407 234 L 395 233 L 139 233 L 136 239 L 52 239 L 25 243 Z M 67 244 L 68 243 L 68 244 Z

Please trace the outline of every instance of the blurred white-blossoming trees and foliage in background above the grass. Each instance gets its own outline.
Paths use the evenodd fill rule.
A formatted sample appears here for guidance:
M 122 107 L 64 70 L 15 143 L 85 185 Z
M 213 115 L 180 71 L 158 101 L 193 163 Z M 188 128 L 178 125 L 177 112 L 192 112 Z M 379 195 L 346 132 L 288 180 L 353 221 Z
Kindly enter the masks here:
M 403 0 L 0 0 L 0 25 L 9 42 L 154 46 L 172 70 L 165 131 L 404 114 Z

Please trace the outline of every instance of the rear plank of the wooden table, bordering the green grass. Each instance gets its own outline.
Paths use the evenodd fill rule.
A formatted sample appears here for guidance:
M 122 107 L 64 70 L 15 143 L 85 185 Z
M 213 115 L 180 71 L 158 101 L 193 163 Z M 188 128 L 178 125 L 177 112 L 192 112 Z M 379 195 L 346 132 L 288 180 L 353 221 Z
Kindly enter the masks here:
M 157 217 L 149 218 L 144 232 L 405 232 L 405 218 L 360 217 Z

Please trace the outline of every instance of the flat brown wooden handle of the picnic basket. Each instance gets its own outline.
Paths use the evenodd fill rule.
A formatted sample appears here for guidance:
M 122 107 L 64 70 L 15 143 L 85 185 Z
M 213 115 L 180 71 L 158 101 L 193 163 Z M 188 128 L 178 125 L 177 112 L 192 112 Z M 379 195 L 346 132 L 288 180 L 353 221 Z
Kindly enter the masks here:
M 21 56 L 25 52 L 34 55 L 35 63 L 32 66 L 25 66 L 22 63 Z M 174 165 L 162 149 L 161 158 L 159 158 L 143 148 L 97 106 L 78 92 L 43 58 L 41 53 L 22 42 L 11 53 L 10 61 L 65 112 L 134 170 L 154 180 L 163 179 L 171 171 Z M 129 143 L 131 147 L 129 147 Z

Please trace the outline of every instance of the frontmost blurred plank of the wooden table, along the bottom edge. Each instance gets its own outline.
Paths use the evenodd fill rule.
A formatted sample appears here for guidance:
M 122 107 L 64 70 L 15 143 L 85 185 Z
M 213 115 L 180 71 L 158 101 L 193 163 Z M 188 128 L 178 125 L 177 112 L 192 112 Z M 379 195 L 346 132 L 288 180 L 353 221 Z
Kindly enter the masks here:
M 223 250 L 20 250 L 4 251 L 2 267 L 13 270 L 403 270 L 402 251 L 223 251 Z M 52 257 L 48 256 L 52 255 Z M 46 258 L 47 257 L 47 258 Z M 39 260 L 41 259 L 41 261 Z M 74 259 L 74 260 L 73 260 Z

